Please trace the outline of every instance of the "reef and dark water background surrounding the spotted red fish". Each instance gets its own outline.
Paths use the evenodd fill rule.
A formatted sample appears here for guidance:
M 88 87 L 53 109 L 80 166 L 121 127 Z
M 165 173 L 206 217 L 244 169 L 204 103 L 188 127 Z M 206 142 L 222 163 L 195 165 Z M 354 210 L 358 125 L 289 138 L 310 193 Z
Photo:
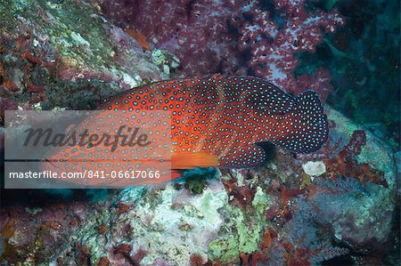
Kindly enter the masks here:
M 158 186 L 2 188 L 0 265 L 399 265 L 399 44 L 399 1 L 1 0 L 1 149 L 4 110 L 217 73 L 314 90 L 330 133 Z

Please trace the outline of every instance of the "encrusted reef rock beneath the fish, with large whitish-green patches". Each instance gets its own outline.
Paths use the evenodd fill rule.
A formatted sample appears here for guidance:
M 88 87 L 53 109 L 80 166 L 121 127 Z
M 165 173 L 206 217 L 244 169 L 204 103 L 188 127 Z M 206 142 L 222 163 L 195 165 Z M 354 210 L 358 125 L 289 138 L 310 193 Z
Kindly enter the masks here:
M 389 238 L 396 165 L 372 133 L 337 111 L 328 114 L 335 123 L 319 152 L 293 157 L 278 149 L 262 167 L 206 170 L 214 177 L 196 193 L 192 185 L 170 182 L 112 190 L 101 200 L 3 208 L 2 262 L 309 265 L 350 251 L 369 255 Z M 341 166 L 348 165 L 340 160 L 344 150 L 354 167 L 368 165 L 387 185 L 348 172 Z M 315 159 L 327 171 L 311 178 L 302 165 Z

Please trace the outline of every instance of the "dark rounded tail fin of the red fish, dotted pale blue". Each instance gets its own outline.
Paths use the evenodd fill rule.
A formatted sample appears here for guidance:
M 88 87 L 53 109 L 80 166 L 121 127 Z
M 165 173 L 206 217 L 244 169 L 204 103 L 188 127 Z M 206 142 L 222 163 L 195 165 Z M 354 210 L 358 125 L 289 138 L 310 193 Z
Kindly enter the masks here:
M 289 122 L 274 144 L 296 153 L 310 153 L 320 149 L 329 134 L 327 117 L 323 113 L 319 95 L 314 91 L 296 97 L 296 109 L 287 117 Z

